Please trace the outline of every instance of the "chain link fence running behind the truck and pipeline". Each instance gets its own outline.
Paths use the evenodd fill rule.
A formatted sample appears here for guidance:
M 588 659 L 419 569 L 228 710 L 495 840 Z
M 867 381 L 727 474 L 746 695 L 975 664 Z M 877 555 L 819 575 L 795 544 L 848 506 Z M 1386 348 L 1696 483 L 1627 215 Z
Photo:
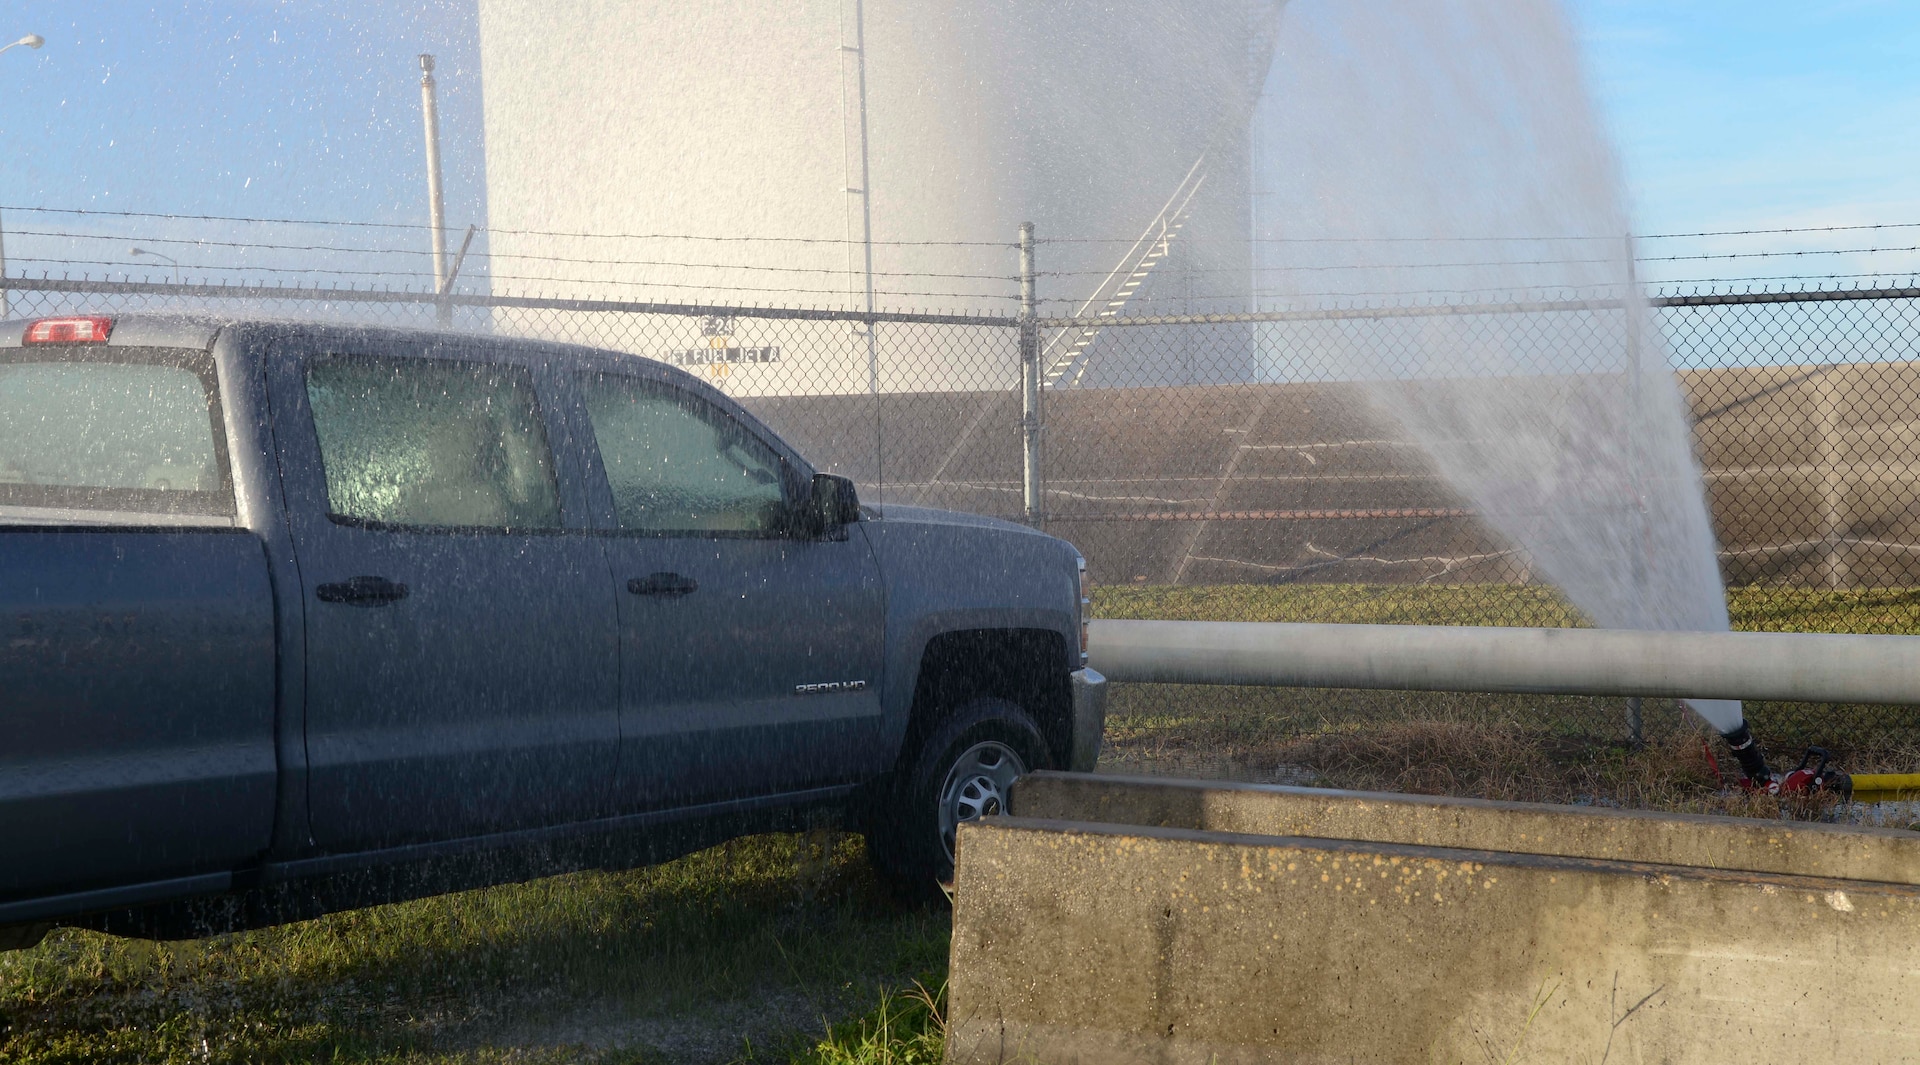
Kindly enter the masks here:
M 1375 376 L 1423 395 L 1475 388 L 1419 361 L 1436 328 L 1467 351 L 1526 345 L 1542 359 L 1507 384 L 1571 403 L 1613 372 L 1620 319 L 1619 299 L 1020 319 L 8 286 L 12 317 L 447 322 L 630 351 L 710 380 L 822 468 L 854 478 L 868 503 L 995 514 L 1073 541 L 1098 614 L 1371 624 L 1582 618 L 1436 474 L 1382 413 L 1379 386 L 1356 384 L 1367 363 L 1352 355 L 1388 355 Z M 1920 290 L 1661 296 L 1651 315 L 1692 414 L 1734 627 L 1920 631 Z M 1461 716 L 1582 741 L 1692 727 L 1672 702 L 1133 685 L 1116 693 L 1110 754 L 1284 777 L 1275 752 L 1298 737 Z M 1905 706 L 1751 706 L 1749 716 L 1776 743 L 1920 741 L 1920 716 Z

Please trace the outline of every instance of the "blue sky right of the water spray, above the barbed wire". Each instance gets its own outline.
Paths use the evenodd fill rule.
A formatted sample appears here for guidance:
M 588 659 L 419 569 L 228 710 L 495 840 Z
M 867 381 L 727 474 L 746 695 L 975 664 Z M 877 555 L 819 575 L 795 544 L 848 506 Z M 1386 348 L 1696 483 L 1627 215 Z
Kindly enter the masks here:
M 1920 221 L 1920 4 L 1571 10 L 1642 232 Z

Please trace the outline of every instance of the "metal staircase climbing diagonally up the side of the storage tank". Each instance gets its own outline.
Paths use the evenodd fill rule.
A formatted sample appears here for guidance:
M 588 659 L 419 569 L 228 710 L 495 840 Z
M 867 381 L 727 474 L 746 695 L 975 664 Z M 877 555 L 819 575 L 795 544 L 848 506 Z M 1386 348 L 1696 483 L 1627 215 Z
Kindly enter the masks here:
M 1075 319 L 1117 319 L 1125 311 L 1127 301 L 1146 284 L 1152 276 L 1154 267 L 1158 267 L 1171 251 L 1173 240 L 1187 226 L 1187 219 L 1192 213 L 1194 198 L 1200 194 L 1200 186 L 1206 184 L 1208 157 L 1212 157 L 1223 142 L 1236 136 L 1246 129 L 1248 119 L 1254 113 L 1254 106 L 1260 100 L 1260 92 L 1265 86 L 1267 65 L 1273 61 L 1273 48 L 1279 40 L 1281 10 L 1286 0 L 1248 0 L 1246 4 L 1246 61 L 1248 61 L 1248 84 L 1246 94 L 1238 106 L 1229 106 L 1221 115 L 1219 127 L 1215 127 L 1213 136 L 1206 152 L 1194 159 L 1194 165 L 1181 178 L 1179 188 L 1167 198 L 1167 203 L 1154 215 L 1154 221 L 1146 225 L 1146 232 L 1140 240 L 1133 242 L 1133 248 L 1119 259 L 1110 274 L 1092 290 L 1092 296 L 1081 303 L 1079 311 L 1073 313 Z M 1091 365 L 1091 349 L 1094 340 L 1100 338 L 1104 322 L 1089 322 L 1083 326 L 1073 326 L 1060 330 L 1048 338 L 1046 345 L 1041 349 L 1041 374 L 1046 388 L 1071 388 L 1081 384 L 1087 376 L 1087 367 Z

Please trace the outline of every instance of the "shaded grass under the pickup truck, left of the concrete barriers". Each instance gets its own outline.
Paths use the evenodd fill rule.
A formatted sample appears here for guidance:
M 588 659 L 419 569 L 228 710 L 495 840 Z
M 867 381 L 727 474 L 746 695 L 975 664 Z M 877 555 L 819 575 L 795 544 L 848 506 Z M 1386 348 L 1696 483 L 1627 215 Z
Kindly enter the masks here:
M 858 839 L 756 837 L 198 942 L 56 931 L 0 954 L 0 1059 L 829 1061 L 806 1032 L 945 963 Z

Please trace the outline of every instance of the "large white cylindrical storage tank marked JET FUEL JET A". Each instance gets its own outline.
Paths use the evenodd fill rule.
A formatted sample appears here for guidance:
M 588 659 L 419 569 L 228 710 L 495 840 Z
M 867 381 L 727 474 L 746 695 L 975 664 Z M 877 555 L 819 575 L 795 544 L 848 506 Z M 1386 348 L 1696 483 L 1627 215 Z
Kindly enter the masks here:
M 480 0 L 493 292 L 866 309 L 872 288 L 877 309 L 1012 313 L 1033 221 L 1043 313 L 1069 313 L 1217 140 L 1127 313 L 1244 309 L 1258 17 L 1271 4 Z M 985 334 L 883 326 L 870 376 L 849 324 L 499 324 L 684 363 L 758 349 L 710 368 L 741 395 L 1014 380 Z

